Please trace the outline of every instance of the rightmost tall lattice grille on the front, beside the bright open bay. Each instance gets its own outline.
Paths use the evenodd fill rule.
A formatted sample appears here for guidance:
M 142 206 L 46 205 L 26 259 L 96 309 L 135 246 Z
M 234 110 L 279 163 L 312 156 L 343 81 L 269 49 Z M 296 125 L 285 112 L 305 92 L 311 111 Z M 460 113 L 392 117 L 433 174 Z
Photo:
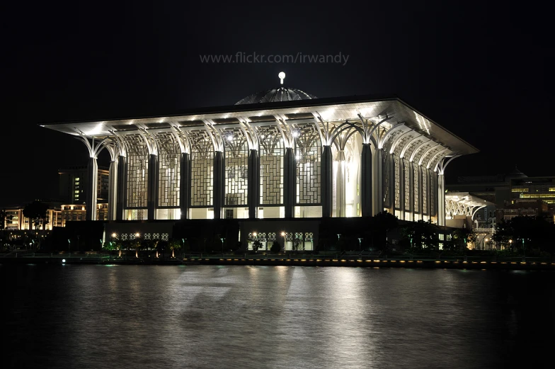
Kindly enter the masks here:
M 320 203 L 320 137 L 316 127 L 304 125 L 297 128 L 300 135 L 295 140 L 297 162 L 297 204 Z

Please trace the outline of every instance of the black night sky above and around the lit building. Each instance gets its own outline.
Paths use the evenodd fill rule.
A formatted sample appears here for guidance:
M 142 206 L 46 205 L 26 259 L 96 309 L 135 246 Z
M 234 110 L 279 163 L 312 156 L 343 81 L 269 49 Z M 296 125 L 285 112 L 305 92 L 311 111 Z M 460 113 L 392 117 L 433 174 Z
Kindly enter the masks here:
M 278 86 L 280 71 L 286 86 L 318 97 L 395 93 L 477 147 L 479 154 L 452 161 L 447 182 L 515 164 L 528 176 L 555 176 L 547 9 L 508 1 L 279 3 L 4 6 L 0 206 L 56 198 L 57 169 L 86 164 L 83 144 L 40 123 L 231 105 Z M 200 62 L 236 52 L 349 59 Z

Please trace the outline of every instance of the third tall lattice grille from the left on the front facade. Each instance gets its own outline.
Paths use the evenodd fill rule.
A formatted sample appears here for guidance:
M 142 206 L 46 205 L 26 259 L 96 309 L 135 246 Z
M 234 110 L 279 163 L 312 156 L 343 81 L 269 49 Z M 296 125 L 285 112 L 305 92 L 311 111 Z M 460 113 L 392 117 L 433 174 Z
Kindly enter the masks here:
M 205 131 L 188 132 L 191 142 L 191 207 L 213 205 L 214 149 Z

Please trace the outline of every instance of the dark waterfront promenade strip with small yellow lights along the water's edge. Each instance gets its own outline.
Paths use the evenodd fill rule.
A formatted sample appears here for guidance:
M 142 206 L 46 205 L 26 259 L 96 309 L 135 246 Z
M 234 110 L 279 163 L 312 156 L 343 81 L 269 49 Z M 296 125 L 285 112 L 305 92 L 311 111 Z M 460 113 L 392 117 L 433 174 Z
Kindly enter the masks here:
M 148 254 L 110 255 L 96 253 L 34 254 L 12 252 L 0 254 L 0 264 L 101 264 L 101 265 L 245 265 L 245 266 L 349 266 L 389 268 L 454 268 L 486 270 L 555 271 L 555 262 L 546 258 L 483 256 L 387 256 L 372 253 L 343 254 L 181 254 L 176 258 Z

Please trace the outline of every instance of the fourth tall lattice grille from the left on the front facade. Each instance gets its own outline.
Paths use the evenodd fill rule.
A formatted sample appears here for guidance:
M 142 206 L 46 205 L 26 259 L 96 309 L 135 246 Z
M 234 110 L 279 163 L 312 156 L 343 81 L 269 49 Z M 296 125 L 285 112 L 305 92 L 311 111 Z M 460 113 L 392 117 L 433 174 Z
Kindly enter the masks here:
M 247 205 L 248 145 L 243 132 L 222 132 L 225 145 L 225 205 Z

